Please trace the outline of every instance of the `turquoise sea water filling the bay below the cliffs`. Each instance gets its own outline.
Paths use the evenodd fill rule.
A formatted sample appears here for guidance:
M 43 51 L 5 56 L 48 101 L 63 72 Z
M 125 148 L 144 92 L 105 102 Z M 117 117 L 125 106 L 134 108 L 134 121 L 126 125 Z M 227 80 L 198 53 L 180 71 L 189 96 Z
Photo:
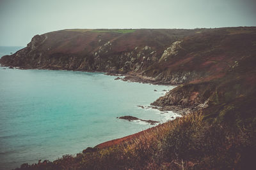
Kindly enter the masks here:
M 0 46 L 1 55 L 22 47 Z M 138 107 L 171 86 L 115 80 L 81 71 L 0 67 L 0 169 L 54 160 L 153 125 L 116 117 L 166 122 L 175 113 Z

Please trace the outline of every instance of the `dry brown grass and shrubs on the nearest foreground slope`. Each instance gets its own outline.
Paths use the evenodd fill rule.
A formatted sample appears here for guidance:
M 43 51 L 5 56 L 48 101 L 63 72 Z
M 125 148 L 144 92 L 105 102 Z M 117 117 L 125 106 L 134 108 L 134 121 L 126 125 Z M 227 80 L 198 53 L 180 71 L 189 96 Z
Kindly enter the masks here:
M 255 136 L 255 125 L 210 125 L 194 113 L 107 148 L 20 169 L 252 169 Z

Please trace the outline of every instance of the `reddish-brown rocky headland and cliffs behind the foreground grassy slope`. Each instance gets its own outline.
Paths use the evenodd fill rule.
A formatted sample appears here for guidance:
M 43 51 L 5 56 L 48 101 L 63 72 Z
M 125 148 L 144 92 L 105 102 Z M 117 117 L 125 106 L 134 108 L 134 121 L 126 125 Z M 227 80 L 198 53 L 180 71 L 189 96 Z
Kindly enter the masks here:
M 255 94 L 255 54 L 255 27 L 73 29 L 36 35 L 0 63 L 126 73 L 147 82 L 182 84 L 152 104 L 191 111 Z

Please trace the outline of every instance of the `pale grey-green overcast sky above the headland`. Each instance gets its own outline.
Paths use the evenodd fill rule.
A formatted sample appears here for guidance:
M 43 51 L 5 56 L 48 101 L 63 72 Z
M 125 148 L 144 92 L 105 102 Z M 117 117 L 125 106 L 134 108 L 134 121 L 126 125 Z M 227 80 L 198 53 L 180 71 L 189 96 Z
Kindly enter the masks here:
M 256 0 L 0 0 L 0 46 L 61 29 L 256 26 Z

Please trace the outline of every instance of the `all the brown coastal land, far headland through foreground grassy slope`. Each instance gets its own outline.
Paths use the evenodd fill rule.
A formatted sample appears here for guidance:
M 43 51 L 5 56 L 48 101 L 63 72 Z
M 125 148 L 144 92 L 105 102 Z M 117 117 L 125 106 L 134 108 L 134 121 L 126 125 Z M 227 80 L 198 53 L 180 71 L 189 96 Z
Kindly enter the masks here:
M 55 31 L 0 59 L 177 85 L 151 105 L 183 117 L 20 169 L 253 169 L 256 27 Z

